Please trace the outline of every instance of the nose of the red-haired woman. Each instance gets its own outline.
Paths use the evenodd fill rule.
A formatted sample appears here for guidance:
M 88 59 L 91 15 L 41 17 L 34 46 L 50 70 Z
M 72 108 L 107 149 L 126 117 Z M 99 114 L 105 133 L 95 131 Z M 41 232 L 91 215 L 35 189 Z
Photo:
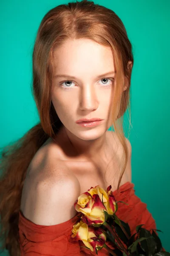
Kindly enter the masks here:
M 99 102 L 96 96 L 96 91 L 93 86 L 87 85 L 80 90 L 80 110 L 93 111 L 98 108 Z

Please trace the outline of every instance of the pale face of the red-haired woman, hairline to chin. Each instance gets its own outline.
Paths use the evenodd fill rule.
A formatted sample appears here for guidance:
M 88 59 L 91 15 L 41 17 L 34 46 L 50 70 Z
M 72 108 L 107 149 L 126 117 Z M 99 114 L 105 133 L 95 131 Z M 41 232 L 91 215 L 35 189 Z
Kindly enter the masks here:
M 112 125 L 116 74 L 111 48 L 89 39 L 66 41 L 54 52 L 54 59 L 51 100 L 62 124 L 84 140 L 102 136 Z M 76 123 L 78 119 L 96 117 L 103 120 L 94 127 Z

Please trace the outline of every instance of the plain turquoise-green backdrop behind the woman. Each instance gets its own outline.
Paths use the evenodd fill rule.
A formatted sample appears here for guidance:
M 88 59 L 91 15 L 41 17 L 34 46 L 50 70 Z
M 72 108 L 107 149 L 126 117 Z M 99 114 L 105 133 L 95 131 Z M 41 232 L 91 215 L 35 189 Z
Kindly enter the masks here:
M 170 2 L 98 0 L 122 19 L 133 46 L 132 182 L 170 252 Z M 54 0 L 0 3 L 0 147 L 22 137 L 39 117 L 31 95 L 31 55 L 42 17 Z M 128 128 L 125 114 L 125 127 Z M 126 132 L 126 136 L 127 136 Z M 6 251 L 0 255 L 7 255 Z

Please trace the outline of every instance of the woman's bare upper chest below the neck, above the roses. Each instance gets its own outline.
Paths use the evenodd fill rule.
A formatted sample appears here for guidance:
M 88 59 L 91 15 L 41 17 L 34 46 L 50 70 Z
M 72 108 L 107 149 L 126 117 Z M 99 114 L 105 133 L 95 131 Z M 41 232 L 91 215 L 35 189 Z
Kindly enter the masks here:
M 65 161 L 68 169 L 77 177 L 80 184 L 80 194 L 88 191 L 91 186 L 101 186 L 107 189 L 112 186 L 115 191 L 118 186 L 119 178 L 122 172 L 121 156 L 115 154 L 111 160 L 105 161 L 98 159 L 90 162 Z M 128 181 L 127 174 L 124 173 L 120 186 Z

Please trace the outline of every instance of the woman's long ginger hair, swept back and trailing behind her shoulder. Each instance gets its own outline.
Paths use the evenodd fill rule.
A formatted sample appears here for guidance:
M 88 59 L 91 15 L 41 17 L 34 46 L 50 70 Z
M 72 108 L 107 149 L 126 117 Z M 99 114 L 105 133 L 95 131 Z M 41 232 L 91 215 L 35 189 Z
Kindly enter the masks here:
M 112 125 L 124 150 L 124 165 L 117 189 L 125 172 L 128 148 L 123 131 L 123 115 L 128 108 L 130 109 L 130 80 L 133 67 L 132 45 L 125 26 L 115 12 L 94 4 L 93 1 L 82 0 L 61 4 L 42 18 L 34 43 L 32 93 L 40 122 L 1 151 L 1 249 L 7 249 L 11 256 L 20 256 L 18 219 L 23 183 L 29 163 L 49 137 L 54 140 L 62 126 L 51 102 L 53 53 L 65 40 L 79 38 L 88 38 L 112 49 L 116 70 L 115 93 L 111 108 Z M 131 61 L 131 67 L 128 67 L 128 61 Z M 123 90 L 126 81 L 127 89 Z

